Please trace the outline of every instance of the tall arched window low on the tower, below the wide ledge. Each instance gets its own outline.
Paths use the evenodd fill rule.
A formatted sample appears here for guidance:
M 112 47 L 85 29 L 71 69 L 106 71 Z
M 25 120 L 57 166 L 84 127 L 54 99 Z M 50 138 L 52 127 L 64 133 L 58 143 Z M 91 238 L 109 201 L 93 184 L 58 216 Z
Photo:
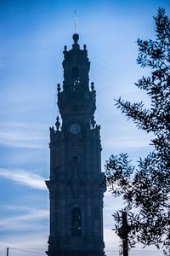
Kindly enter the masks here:
M 82 236 L 82 212 L 79 207 L 71 211 L 71 235 Z

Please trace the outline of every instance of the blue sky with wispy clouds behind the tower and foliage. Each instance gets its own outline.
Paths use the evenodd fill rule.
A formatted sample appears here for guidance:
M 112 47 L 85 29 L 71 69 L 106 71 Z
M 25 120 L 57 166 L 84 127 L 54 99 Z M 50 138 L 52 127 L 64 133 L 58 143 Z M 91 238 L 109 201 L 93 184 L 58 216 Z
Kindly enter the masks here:
M 71 48 L 75 10 L 79 44 L 87 44 L 90 81 L 97 90 L 102 163 L 121 152 L 135 162 L 150 151 L 151 136 L 127 121 L 113 99 L 122 96 L 150 106 L 150 99 L 134 85 L 150 73 L 136 64 L 136 40 L 154 38 L 152 16 L 159 7 L 169 15 L 168 0 L 0 1 L 0 255 L 6 255 L 1 253 L 5 247 L 15 247 L 9 250 L 14 256 L 37 255 L 16 248 L 39 248 L 43 254 L 47 248 L 48 127 L 59 113 L 56 84 L 62 84 L 62 51 L 65 44 Z M 111 230 L 111 213 L 121 206 L 122 201 L 106 193 L 108 256 L 117 255 L 120 241 Z M 153 253 L 148 250 L 154 248 L 143 255 Z

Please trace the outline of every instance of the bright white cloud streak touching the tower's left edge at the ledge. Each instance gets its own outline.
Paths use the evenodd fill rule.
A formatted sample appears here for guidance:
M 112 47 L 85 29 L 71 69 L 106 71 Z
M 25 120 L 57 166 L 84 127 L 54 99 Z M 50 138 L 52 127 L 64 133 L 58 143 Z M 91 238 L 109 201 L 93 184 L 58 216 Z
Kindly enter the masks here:
M 7 178 L 33 189 L 47 190 L 44 178 L 25 170 L 8 170 L 0 168 L 0 177 Z

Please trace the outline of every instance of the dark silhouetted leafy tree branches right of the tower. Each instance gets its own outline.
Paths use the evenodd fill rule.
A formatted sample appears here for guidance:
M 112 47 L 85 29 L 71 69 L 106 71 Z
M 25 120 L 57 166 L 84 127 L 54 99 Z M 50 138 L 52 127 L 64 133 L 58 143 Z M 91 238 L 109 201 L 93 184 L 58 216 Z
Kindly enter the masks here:
M 140 67 L 150 67 L 150 77 L 139 79 L 136 86 L 150 96 L 150 108 L 143 102 L 131 103 L 119 98 L 127 118 L 139 129 L 152 132 L 154 146 L 135 168 L 127 154 L 112 155 L 105 164 L 105 181 L 114 196 L 122 195 L 130 225 L 129 244 L 170 247 L 170 20 L 165 9 L 158 9 L 156 40 L 138 39 Z M 113 214 L 116 230 L 122 225 L 120 212 Z

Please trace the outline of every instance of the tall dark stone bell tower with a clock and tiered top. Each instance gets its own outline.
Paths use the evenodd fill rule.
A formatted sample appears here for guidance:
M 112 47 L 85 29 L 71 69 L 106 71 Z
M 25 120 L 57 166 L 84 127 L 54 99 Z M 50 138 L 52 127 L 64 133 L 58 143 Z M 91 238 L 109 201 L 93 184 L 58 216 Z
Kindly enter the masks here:
M 94 120 L 94 83 L 89 89 L 88 51 L 78 34 L 64 50 L 64 81 L 58 84 L 62 120 L 50 128 L 48 256 L 105 256 L 103 241 L 104 174 L 99 129 Z

